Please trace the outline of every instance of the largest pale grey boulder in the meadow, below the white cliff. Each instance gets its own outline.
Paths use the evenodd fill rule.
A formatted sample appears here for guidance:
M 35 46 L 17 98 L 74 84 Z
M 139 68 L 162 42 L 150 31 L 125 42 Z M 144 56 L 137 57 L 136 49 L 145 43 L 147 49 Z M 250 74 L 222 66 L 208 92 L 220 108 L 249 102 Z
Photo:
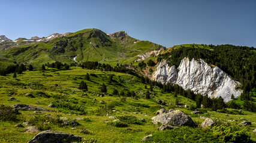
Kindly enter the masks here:
M 191 117 L 187 116 L 180 110 L 171 111 L 170 113 L 158 114 L 158 116 L 152 117 L 153 123 L 158 122 L 162 125 L 167 125 L 171 123 L 173 126 L 195 126 L 195 123 Z

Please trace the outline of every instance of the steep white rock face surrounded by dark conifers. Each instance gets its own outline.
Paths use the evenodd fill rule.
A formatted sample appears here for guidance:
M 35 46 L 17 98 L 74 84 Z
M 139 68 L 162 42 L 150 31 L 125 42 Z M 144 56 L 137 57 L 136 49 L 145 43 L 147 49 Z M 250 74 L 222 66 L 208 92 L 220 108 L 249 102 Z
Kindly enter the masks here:
M 157 64 L 152 74 L 152 80 L 161 83 L 173 83 L 182 86 L 183 89 L 191 89 L 196 94 L 208 95 L 209 97 L 222 97 L 225 102 L 231 100 L 231 95 L 238 97 L 242 91 L 236 89 L 239 82 L 230 79 L 228 74 L 211 67 L 203 60 L 189 61 L 183 58 L 179 67 L 169 67 L 167 61 L 162 60 Z

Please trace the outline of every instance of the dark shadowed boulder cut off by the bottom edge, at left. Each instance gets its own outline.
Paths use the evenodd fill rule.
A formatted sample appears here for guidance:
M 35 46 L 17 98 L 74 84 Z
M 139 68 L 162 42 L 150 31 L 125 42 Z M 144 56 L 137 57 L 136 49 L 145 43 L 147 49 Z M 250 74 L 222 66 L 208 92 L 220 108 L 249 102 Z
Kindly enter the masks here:
M 38 133 L 34 138 L 32 138 L 28 143 L 32 142 L 44 142 L 44 143 L 62 143 L 62 142 L 73 142 L 73 141 L 81 141 L 82 136 L 75 136 L 73 134 L 64 133 L 64 132 L 56 132 L 53 130 L 45 130 L 43 132 Z

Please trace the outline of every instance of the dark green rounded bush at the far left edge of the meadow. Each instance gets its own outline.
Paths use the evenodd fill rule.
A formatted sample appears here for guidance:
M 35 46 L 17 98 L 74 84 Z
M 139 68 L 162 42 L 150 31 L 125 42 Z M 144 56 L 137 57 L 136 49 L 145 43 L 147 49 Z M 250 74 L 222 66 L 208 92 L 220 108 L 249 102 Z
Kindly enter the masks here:
M 19 112 L 8 105 L 0 105 L 0 121 L 16 121 Z

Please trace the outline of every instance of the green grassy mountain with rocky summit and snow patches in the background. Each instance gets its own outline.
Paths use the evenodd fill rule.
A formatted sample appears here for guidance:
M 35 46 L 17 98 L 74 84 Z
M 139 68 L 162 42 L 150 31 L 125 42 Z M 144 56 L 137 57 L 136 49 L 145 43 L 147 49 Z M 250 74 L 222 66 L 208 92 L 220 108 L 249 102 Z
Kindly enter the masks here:
M 19 38 L 14 42 L 21 46 L 5 48 L 1 51 L 1 57 L 30 64 L 54 61 L 64 63 L 101 61 L 110 64 L 125 64 L 136 60 L 135 56 L 138 54 L 165 48 L 156 43 L 131 38 L 125 32 L 107 35 L 98 29 L 85 29 L 64 35 L 56 33 L 39 39 Z

